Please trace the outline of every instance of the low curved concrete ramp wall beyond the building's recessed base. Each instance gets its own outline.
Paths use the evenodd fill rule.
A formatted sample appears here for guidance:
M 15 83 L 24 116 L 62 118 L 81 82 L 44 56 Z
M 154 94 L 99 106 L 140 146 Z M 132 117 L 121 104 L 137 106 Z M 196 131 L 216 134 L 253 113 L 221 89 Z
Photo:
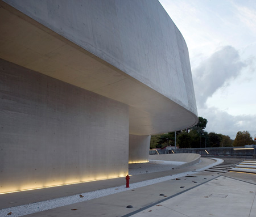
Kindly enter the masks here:
M 180 153 L 180 154 L 168 154 L 168 155 L 150 155 L 149 160 L 167 160 L 167 161 L 182 161 L 186 162 L 178 167 L 186 167 L 196 164 L 200 161 L 201 155 L 193 153 Z

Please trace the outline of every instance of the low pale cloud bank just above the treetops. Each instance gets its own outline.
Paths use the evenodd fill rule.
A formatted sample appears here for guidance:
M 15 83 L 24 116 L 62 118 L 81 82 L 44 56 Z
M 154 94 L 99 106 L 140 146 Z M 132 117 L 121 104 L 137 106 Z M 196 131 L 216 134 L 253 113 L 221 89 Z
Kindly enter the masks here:
M 232 116 L 225 111 L 214 107 L 200 109 L 199 116 L 206 118 L 208 124 L 206 131 L 229 135 L 235 139 L 238 131 L 247 130 L 254 137 L 256 134 L 256 115 Z

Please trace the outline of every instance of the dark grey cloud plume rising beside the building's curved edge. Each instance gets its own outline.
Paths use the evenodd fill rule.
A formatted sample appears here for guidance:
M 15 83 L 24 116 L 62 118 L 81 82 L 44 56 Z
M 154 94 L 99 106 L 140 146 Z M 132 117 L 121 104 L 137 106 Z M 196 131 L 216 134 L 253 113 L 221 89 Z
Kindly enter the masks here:
M 218 88 L 228 86 L 247 64 L 243 62 L 236 49 L 224 46 L 192 70 L 193 81 L 199 107 L 205 107 L 208 97 Z

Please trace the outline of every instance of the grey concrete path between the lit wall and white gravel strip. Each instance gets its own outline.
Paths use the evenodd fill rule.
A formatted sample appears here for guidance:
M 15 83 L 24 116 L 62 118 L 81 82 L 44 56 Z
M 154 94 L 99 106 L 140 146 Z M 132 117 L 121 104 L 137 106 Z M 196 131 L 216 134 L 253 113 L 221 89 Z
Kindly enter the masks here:
M 176 175 L 177 173 L 185 173 L 190 171 L 196 171 L 196 169 L 205 168 L 210 164 L 216 163 L 213 159 L 202 159 L 199 164 L 191 165 L 189 167 L 172 169 L 171 171 L 153 172 L 142 175 L 133 175 L 130 178 L 130 184 L 142 182 L 146 180 L 152 180 L 154 178 L 160 178 L 164 176 Z M 53 188 L 44 188 L 36 190 L 28 190 L 24 192 L 15 192 L 9 194 L 0 194 L 0 209 L 4 209 L 12 206 L 26 205 L 28 203 L 47 201 L 49 199 L 55 199 L 85 192 L 92 192 L 94 190 L 112 188 L 115 186 L 125 185 L 125 177 L 112 178 L 106 180 L 97 180 L 92 182 L 85 182 L 81 184 L 57 186 Z

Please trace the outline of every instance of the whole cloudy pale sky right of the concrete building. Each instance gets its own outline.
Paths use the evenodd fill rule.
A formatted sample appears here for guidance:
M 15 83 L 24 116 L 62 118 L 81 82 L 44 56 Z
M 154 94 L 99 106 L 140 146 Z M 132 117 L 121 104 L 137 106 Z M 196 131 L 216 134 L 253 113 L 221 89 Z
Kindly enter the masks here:
M 189 51 L 208 133 L 256 134 L 256 1 L 159 0 Z

